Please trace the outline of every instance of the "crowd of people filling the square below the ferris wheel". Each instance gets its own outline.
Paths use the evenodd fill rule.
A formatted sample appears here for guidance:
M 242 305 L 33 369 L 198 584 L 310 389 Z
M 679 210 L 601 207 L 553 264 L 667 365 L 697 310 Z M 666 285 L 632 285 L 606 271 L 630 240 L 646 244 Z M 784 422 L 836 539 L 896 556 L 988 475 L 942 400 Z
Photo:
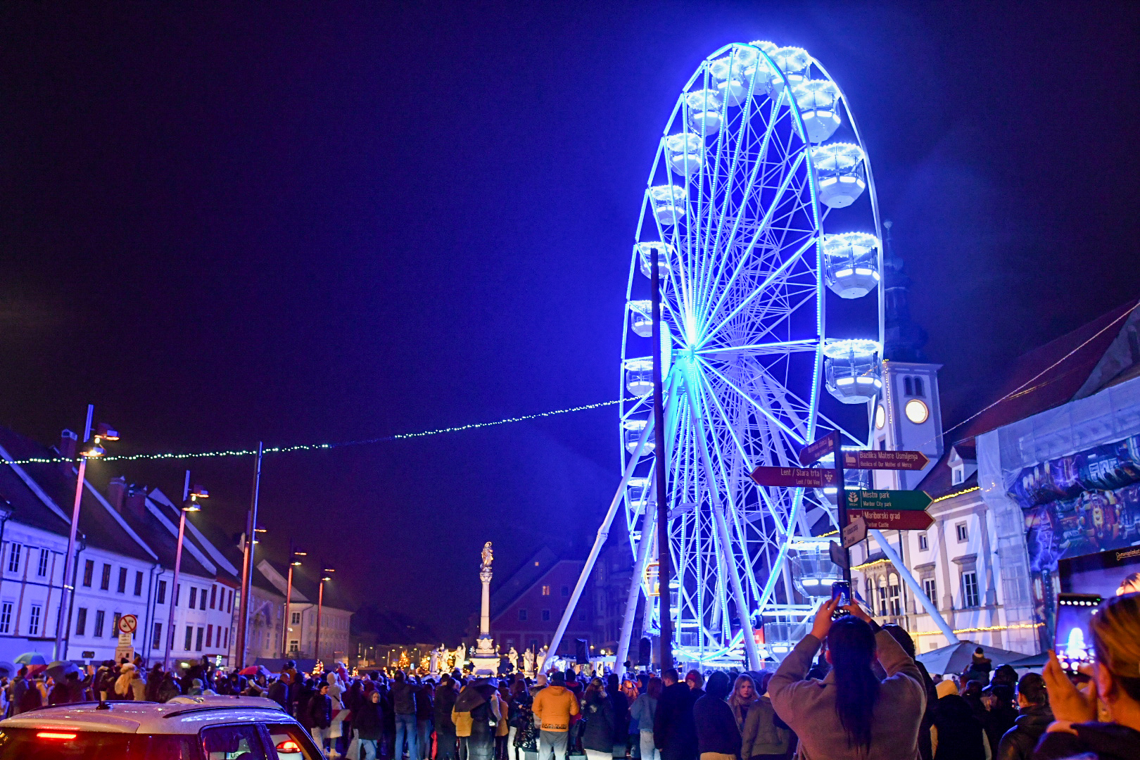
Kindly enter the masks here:
M 87 677 L 25 667 L 0 684 L 0 706 L 13 716 L 84 700 L 262 696 L 327 757 L 348 760 L 1140 758 L 1140 594 L 1094 616 L 1088 680 L 1066 675 L 1052 653 L 1042 675 L 1018 678 L 1009 665 L 993 669 L 980 647 L 960 676 L 931 677 L 905 630 L 839 605 L 820 607 L 812 632 L 774 672 L 435 678 L 349 675 L 343 665 L 301 673 L 286 662 L 280 673 L 247 678 L 206 661 L 180 675 L 105 662 Z

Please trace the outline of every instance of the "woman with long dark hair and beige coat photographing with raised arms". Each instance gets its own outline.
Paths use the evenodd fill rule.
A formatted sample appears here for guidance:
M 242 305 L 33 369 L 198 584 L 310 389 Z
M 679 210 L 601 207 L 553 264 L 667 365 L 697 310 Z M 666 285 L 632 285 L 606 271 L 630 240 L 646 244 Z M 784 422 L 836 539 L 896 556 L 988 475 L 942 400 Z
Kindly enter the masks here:
M 803 760 L 914 760 L 927 698 L 922 676 L 862 607 L 839 603 L 820 605 L 812 632 L 772 677 L 772 706 L 799 736 Z M 848 614 L 833 621 L 839 608 Z M 831 671 L 805 680 L 824 640 Z M 887 675 L 881 683 L 871 669 L 876 656 Z

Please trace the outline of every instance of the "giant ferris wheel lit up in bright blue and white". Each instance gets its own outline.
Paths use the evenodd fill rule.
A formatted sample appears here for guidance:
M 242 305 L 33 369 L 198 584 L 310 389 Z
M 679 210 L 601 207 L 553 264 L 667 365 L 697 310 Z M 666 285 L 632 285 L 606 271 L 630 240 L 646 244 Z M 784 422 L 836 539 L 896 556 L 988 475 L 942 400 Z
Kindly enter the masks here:
M 882 387 L 880 240 L 866 150 L 820 63 L 764 41 L 701 62 L 643 196 L 620 365 L 621 500 L 651 603 L 644 629 L 657 630 L 668 595 L 682 662 L 758 668 L 779 657 L 840 577 L 821 538 L 837 529 L 833 489 L 762 488 L 749 473 L 798 466 L 799 450 L 832 430 L 866 444 Z M 654 258 L 665 457 L 649 434 Z M 662 461 L 668 589 L 654 575 Z

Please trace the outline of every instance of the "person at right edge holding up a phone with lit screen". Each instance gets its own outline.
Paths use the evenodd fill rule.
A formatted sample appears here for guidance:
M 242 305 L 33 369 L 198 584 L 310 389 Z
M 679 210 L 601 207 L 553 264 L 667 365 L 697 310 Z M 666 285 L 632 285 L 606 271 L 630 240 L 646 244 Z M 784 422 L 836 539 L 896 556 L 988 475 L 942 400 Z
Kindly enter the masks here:
M 1082 692 L 1049 653 L 1042 671 L 1054 720 L 1034 760 L 1140 758 L 1140 594 L 1105 602 L 1089 623 L 1096 662 Z M 1107 718 L 1098 721 L 1100 712 Z

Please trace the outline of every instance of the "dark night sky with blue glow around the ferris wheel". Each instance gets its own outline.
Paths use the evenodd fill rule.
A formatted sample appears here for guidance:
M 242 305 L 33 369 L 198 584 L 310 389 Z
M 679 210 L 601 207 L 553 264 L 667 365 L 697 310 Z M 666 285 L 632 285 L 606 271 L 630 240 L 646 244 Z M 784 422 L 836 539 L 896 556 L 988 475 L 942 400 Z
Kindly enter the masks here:
M 1140 296 L 1126 3 L 91 5 L 0 9 L 0 424 L 44 443 L 89 402 L 130 453 L 616 398 L 657 140 L 734 41 L 849 97 L 947 424 Z M 585 553 L 616 417 L 269 457 L 266 546 L 454 639 L 483 541 Z M 241 530 L 252 460 L 192 467 Z

